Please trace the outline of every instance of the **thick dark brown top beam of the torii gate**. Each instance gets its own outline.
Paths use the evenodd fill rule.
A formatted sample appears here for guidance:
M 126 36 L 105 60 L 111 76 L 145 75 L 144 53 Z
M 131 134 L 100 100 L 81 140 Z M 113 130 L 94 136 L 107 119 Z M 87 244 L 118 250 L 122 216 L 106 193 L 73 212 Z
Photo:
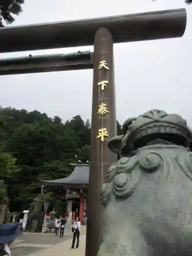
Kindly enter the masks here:
M 17 52 L 93 45 L 100 28 L 114 43 L 181 37 L 185 9 L 129 14 L 0 29 L 0 52 Z

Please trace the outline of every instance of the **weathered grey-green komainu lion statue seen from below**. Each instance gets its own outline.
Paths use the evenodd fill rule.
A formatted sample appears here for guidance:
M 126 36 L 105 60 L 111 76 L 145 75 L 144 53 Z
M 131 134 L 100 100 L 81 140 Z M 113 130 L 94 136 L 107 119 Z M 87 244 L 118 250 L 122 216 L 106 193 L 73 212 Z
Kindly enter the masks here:
M 103 184 L 97 256 L 192 255 L 191 131 L 175 114 L 127 119 L 109 141 L 121 155 Z

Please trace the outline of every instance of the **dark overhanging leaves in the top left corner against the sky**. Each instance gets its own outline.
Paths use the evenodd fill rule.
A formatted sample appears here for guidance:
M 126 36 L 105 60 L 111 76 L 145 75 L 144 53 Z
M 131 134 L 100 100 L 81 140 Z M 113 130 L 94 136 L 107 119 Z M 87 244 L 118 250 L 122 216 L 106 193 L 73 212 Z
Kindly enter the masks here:
M 12 24 L 14 16 L 22 12 L 24 3 L 25 0 L 0 0 L 0 27 L 4 27 L 4 23 Z

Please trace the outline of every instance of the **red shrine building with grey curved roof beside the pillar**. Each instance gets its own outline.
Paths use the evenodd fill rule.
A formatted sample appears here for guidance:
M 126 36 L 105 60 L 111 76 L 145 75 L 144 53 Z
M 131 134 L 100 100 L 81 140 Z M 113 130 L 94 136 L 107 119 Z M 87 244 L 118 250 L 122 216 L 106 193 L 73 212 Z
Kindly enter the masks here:
M 89 185 L 89 164 L 77 164 L 67 178 L 42 181 L 46 190 L 58 191 L 63 203 L 63 216 L 79 218 L 81 224 L 87 222 L 87 200 Z

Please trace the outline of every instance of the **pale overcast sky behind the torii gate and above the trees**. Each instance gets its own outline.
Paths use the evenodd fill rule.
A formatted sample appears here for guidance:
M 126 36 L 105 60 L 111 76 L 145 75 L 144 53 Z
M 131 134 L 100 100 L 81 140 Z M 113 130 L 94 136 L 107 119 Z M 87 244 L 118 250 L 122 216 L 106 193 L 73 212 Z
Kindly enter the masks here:
M 150 109 L 163 109 L 180 114 L 192 125 L 192 5 L 185 5 L 184 0 L 25 2 L 15 26 L 186 8 L 187 27 L 182 38 L 115 45 L 116 105 L 120 123 Z M 93 48 L 17 52 L 0 54 L 0 57 L 79 50 Z M 84 120 L 91 118 L 92 70 L 1 76 L 0 83 L 3 107 L 38 110 L 50 117 L 60 116 L 64 122 L 75 115 L 81 115 Z

